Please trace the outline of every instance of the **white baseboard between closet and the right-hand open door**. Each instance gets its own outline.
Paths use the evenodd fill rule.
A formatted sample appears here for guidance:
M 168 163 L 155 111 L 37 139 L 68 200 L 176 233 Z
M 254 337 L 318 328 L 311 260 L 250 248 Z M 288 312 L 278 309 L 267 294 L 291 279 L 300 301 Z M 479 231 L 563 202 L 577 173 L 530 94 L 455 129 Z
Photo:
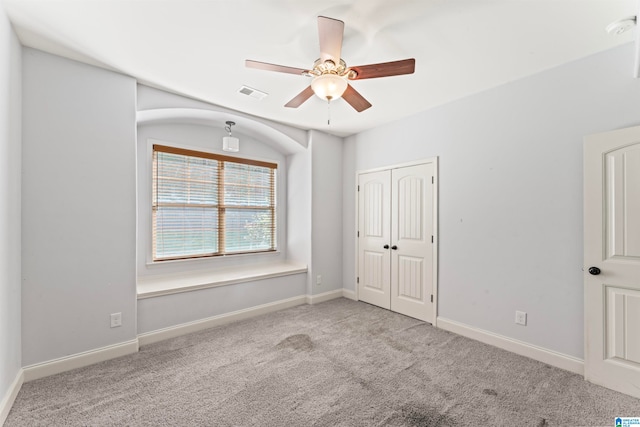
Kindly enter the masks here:
M 444 317 L 438 317 L 437 327 L 444 329 L 445 331 L 453 332 L 454 334 L 462 335 L 463 337 L 471 338 L 473 340 L 510 351 L 511 353 L 519 354 L 520 356 L 525 356 L 530 359 L 555 366 L 556 368 L 564 369 L 578 375 L 584 375 L 584 360 L 578 359 L 577 357 L 538 347 L 524 341 L 505 337 L 504 335 L 495 334 L 493 332 L 485 331 Z

